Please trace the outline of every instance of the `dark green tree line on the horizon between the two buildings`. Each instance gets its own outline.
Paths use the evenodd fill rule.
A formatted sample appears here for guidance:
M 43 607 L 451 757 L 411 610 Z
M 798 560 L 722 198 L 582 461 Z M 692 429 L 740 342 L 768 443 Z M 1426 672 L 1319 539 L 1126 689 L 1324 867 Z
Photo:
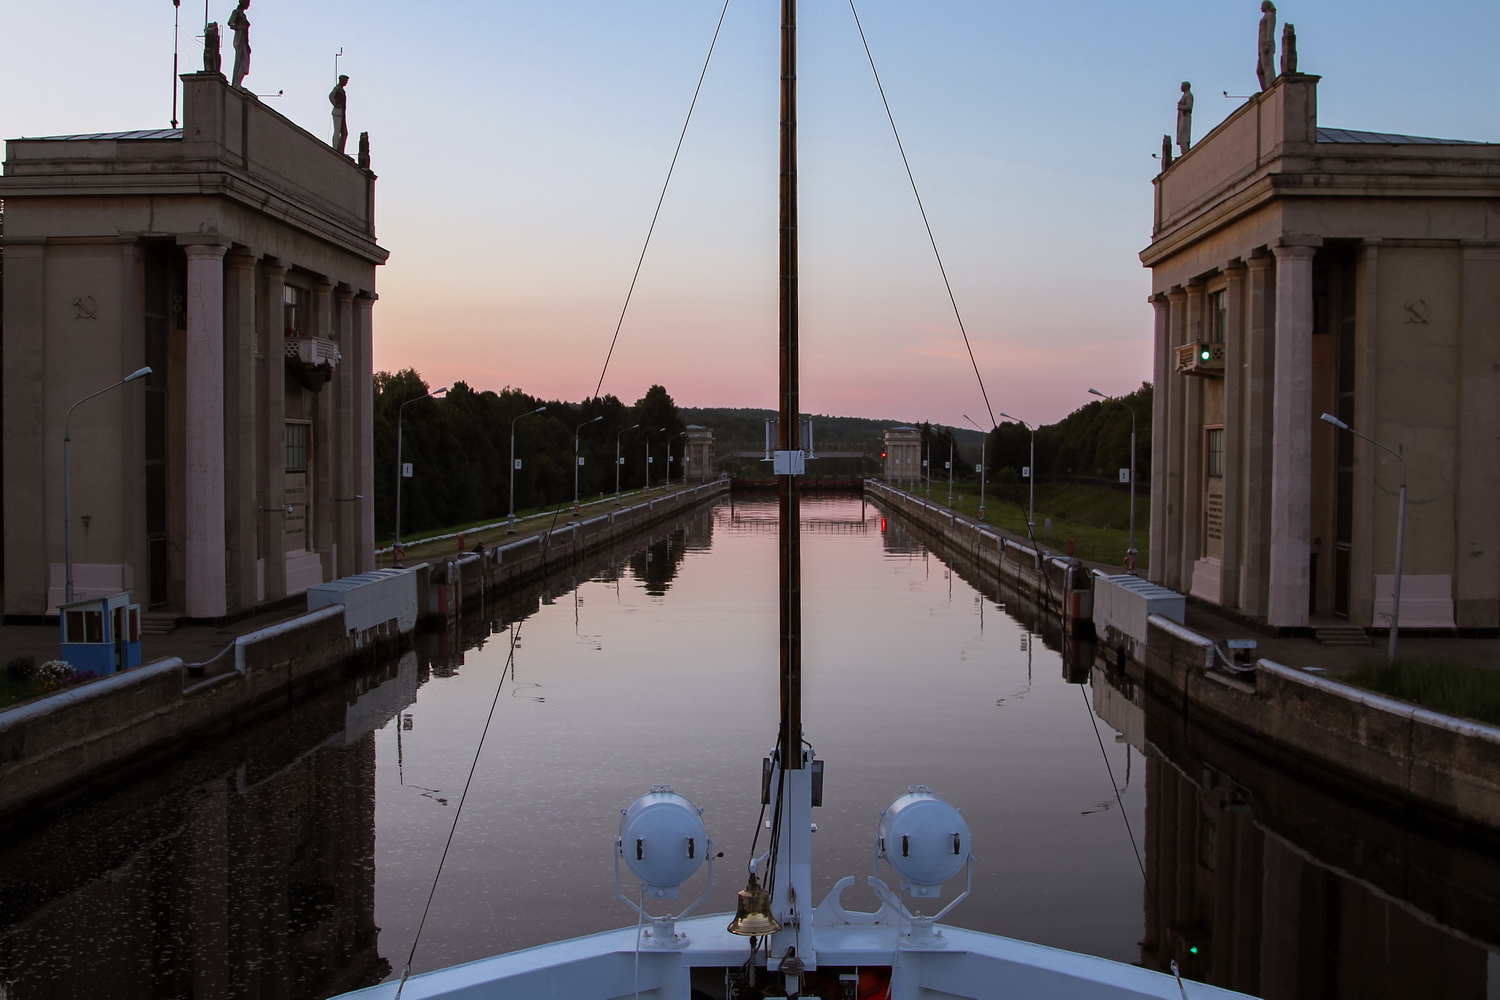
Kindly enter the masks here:
M 402 478 L 400 532 L 452 528 L 506 517 L 514 475 L 516 510 L 561 505 L 573 501 L 574 472 L 578 495 L 594 499 L 621 490 L 638 490 L 668 477 L 684 478 L 682 433 L 700 424 L 714 433 L 720 460 L 716 472 L 758 475 L 758 462 L 735 465 L 726 456 L 735 451 L 760 451 L 765 447 L 765 421 L 770 409 L 704 408 L 680 409 L 662 385 L 651 385 L 633 405 L 615 396 L 600 396 L 582 403 L 543 400 L 519 388 L 476 391 L 454 382 L 441 396 L 412 369 L 375 373 L 375 529 L 392 537 L 396 529 L 398 418 L 400 462 L 412 475 Z M 1124 403 L 1124 405 L 1120 405 Z M 1131 414 L 1136 415 L 1136 480 L 1150 477 L 1152 387 L 1143 382 L 1119 402 L 1098 399 L 1054 424 L 1036 429 L 1036 474 L 1047 478 L 1092 478 L 1116 481 L 1118 469 L 1130 466 Z M 878 475 L 873 456 L 884 450 L 896 420 L 862 417 L 813 418 L 813 444 L 818 451 L 862 451 L 870 460 L 830 460 L 818 472 Z M 978 480 L 975 465 L 981 454 L 986 475 L 993 486 L 1016 481 L 1032 465 L 1032 435 L 1018 423 L 1002 423 L 988 435 L 966 427 L 915 426 L 932 462 L 933 478 L 946 478 L 945 463 L 952 454 L 954 478 Z M 519 469 L 510 468 L 512 430 Z M 574 465 L 574 441 L 580 465 Z M 622 460 L 616 465 L 616 454 Z M 650 462 L 648 462 L 650 457 Z M 820 460 L 822 462 L 822 460 Z M 836 462 L 842 462 L 837 469 Z

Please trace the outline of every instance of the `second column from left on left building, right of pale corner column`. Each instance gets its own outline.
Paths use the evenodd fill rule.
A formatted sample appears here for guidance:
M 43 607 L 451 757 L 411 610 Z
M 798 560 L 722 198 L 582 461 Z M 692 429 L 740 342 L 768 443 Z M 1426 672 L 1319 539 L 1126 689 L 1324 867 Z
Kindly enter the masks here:
M 255 264 L 254 253 L 225 258 L 224 462 L 226 490 L 226 559 L 230 609 L 255 607 Z

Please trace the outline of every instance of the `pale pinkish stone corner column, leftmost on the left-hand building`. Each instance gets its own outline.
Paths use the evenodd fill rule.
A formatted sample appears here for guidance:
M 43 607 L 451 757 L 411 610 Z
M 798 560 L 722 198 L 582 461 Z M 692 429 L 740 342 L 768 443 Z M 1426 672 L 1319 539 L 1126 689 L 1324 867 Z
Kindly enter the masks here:
M 189 243 L 186 349 L 188 618 L 228 610 L 224 552 L 224 244 Z

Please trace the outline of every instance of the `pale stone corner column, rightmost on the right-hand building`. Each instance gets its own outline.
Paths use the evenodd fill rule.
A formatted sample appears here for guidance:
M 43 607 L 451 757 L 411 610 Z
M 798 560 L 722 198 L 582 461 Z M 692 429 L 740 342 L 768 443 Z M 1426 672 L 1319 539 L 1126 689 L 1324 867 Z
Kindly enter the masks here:
M 1284 241 L 1276 255 L 1276 360 L 1270 457 L 1268 624 L 1308 622 L 1312 508 L 1312 255 Z

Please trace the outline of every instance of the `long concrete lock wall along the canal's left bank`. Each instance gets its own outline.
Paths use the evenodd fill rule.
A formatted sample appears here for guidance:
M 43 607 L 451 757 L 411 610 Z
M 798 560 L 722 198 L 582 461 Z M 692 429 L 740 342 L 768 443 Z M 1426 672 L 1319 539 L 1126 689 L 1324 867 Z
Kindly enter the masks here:
M 392 655 L 410 645 L 422 615 L 456 616 L 466 600 L 566 567 L 728 489 L 710 483 L 488 553 L 334 580 L 309 592 L 308 613 L 238 636 L 208 664 L 172 657 L 6 709 L 0 829 L 195 741 L 274 714 L 338 682 L 350 666 Z M 381 619 L 387 612 L 376 609 L 390 616 Z M 206 666 L 214 669 L 196 676 Z

